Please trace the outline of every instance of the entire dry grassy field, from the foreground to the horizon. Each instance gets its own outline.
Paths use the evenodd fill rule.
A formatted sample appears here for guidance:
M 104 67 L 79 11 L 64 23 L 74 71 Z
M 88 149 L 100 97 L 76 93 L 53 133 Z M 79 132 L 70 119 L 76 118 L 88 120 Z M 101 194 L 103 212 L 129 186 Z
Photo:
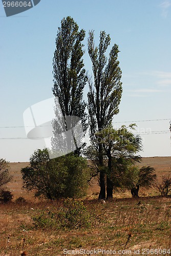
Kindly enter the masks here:
M 1 204 L 0 255 L 21 255 L 21 251 L 27 251 L 23 255 L 57 256 L 67 252 L 68 255 L 109 255 L 112 251 L 115 255 L 171 255 L 170 196 L 160 197 L 151 189 L 140 190 L 141 197 L 132 199 L 130 191 L 125 191 L 101 204 L 97 200 L 99 186 L 94 180 L 83 200 L 89 225 L 74 229 L 63 224 L 61 228 L 61 212 L 65 209 L 62 200 L 39 201 L 32 193 L 22 190 L 20 168 L 27 165 L 10 163 L 14 179 L 9 188 L 14 199 L 10 204 Z M 155 167 L 160 180 L 161 175 L 170 171 L 171 157 L 143 158 L 140 165 Z M 27 202 L 16 203 L 20 196 Z M 54 222 L 58 212 L 60 222 Z M 77 212 L 72 218 L 80 221 Z

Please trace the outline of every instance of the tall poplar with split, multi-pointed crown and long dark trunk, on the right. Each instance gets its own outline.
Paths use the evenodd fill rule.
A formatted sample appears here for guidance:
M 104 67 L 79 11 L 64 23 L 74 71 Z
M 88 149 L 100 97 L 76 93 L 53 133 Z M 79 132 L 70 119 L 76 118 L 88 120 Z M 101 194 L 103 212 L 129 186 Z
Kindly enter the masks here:
M 105 171 L 102 144 L 97 141 L 95 134 L 111 125 L 114 115 L 119 112 L 122 95 L 118 45 L 112 47 L 108 59 L 105 56 L 110 42 L 110 35 L 101 31 L 99 46 L 96 47 L 94 31 L 89 32 L 88 52 L 92 61 L 93 77 L 89 78 L 88 112 L 91 143 L 98 155 L 99 199 L 105 198 Z

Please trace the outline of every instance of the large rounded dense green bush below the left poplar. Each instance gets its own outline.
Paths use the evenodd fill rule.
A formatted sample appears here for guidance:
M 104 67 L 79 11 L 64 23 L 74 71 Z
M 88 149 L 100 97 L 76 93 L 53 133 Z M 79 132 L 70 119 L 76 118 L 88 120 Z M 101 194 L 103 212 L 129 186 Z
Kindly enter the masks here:
M 79 198 L 86 195 L 87 161 L 67 155 L 50 159 L 48 150 L 37 150 L 30 157 L 30 166 L 21 170 L 24 187 L 34 190 L 35 196 L 47 199 Z

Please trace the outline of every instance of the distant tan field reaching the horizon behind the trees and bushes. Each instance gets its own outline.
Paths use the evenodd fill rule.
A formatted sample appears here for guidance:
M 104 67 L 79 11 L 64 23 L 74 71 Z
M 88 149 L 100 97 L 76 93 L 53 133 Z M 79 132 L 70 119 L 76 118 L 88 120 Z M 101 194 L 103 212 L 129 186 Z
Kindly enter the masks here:
M 14 176 L 14 179 L 8 184 L 10 190 L 14 195 L 14 199 L 20 196 L 25 197 L 26 199 L 34 199 L 33 193 L 29 193 L 27 191 L 22 190 L 23 181 L 22 175 L 20 173 L 20 169 L 29 165 L 29 162 L 17 162 L 10 163 L 10 173 Z M 150 165 L 156 169 L 156 173 L 158 175 L 158 179 L 161 180 L 161 176 L 168 173 L 171 170 L 171 157 L 144 157 L 142 158 L 142 162 L 138 164 L 139 166 Z M 92 185 L 88 189 L 88 198 L 94 199 L 97 198 L 99 192 L 99 186 L 97 179 L 92 182 Z M 145 193 L 145 194 L 144 194 Z M 152 191 L 147 190 L 143 191 L 144 196 L 151 195 Z M 141 190 L 140 190 L 141 195 Z M 142 195 L 143 196 L 143 195 Z M 120 197 L 118 193 L 116 193 L 116 197 Z M 129 191 L 125 191 L 122 197 L 131 197 Z

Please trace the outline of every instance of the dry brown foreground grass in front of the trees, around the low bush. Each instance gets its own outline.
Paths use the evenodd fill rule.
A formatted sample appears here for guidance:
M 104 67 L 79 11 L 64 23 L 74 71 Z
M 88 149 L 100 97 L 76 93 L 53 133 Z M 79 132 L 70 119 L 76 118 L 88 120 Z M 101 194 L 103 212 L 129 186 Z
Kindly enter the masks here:
M 142 250 L 170 248 L 170 197 L 84 201 L 91 226 L 76 230 L 35 228 L 32 217 L 62 202 L 1 205 L 1 255 L 63 255 L 63 249 Z M 33 209 L 31 209 L 33 208 Z M 133 234 L 127 242 L 128 234 Z M 127 243 L 126 243 L 127 242 Z M 171 248 L 170 248 L 171 249 Z M 99 254 L 101 255 L 101 254 Z M 169 254 L 167 254 L 169 255 Z

